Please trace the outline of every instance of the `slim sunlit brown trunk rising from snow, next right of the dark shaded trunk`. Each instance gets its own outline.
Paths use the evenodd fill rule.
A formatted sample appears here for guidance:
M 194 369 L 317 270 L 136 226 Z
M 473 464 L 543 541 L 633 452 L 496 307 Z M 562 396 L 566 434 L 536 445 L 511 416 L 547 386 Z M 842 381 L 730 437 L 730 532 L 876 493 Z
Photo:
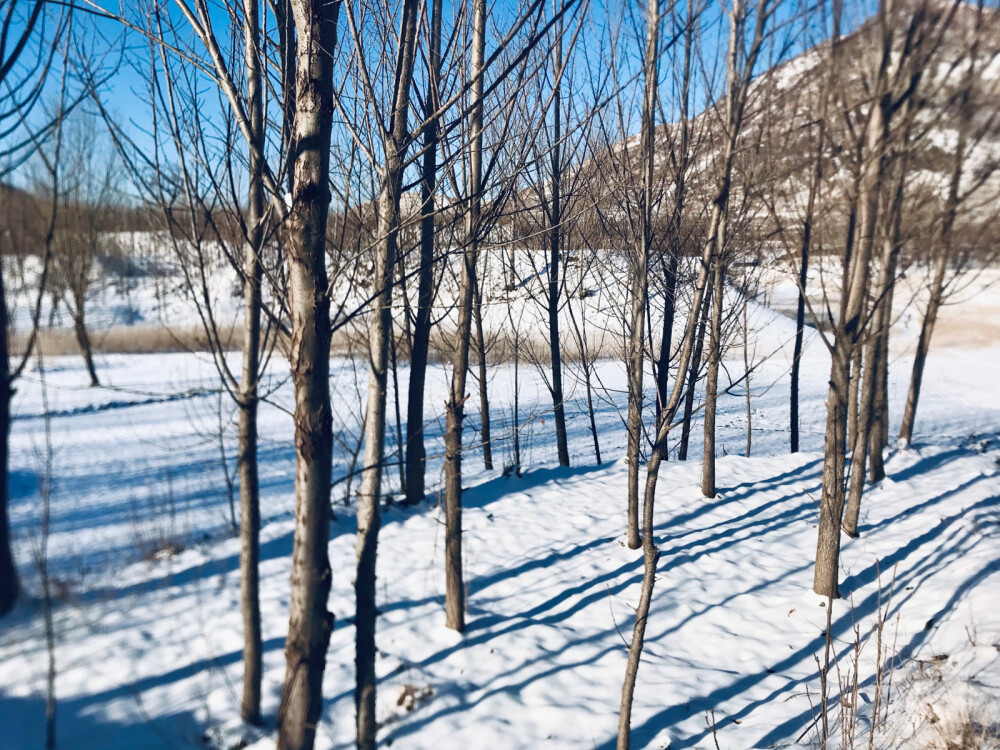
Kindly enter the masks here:
M 469 213 L 462 254 L 458 299 L 458 332 L 451 392 L 445 414 L 445 625 L 465 631 L 465 584 L 462 580 L 462 422 L 465 418 L 466 374 L 472 336 L 472 302 L 479 256 L 479 212 L 483 158 L 483 58 L 486 45 L 486 0 L 472 9 L 472 111 L 469 142 Z

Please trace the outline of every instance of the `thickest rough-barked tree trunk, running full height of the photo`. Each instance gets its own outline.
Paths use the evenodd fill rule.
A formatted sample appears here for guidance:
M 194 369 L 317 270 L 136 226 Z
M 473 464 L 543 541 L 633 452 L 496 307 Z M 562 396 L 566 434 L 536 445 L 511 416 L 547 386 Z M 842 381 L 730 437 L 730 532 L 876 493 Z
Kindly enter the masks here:
M 291 371 L 295 389 L 295 536 L 287 661 L 278 750 L 312 750 L 323 710 L 323 671 L 333 630 L 330 594 L 330 205 L 333 50 L 340 3 L 294 0 L 297 29 L 294 185 L 287 219 Z

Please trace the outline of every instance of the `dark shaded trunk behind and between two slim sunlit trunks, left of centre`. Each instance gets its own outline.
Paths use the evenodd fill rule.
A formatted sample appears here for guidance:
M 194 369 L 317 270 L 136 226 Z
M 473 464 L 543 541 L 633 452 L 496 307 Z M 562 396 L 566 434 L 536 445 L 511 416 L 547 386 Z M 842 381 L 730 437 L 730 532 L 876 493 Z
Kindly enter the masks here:
M 434 0 L 428 41 L 430 79 L 425 115 L 438 106 L 437 85 L 441 75 L 441 2 Z M 426 449 L 424 447 L 424 384 L 431 339 L 431 304 L 434 301 L 434 191 L 437 184 L 438 120 L 429 117 L 424 131 L 424 156 L 420 181 L 420 271 L 417 280 L 417 315 L 410 349 L 410 380 L 406 402 L 406 503 L 424 499 Z

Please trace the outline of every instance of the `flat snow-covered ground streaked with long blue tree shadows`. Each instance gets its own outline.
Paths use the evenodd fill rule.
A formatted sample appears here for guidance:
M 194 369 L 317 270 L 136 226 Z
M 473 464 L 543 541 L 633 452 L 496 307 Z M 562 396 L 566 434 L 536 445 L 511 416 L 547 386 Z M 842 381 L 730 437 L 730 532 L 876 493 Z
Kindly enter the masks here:
M 984 295 L 994 295 L 995 287 Z M 984 303 L 985 304 L 985 303 Z M 700 478 L 700 423 L 691 457 L 671 455 L 657 500 L 662 551 L 633 712 L 635 748 L 723 750 L 816 745 L 825 602 L 811 591 L 828 358 L 812 334 L 803 367 L 804 452 L 788 454 L 788 363 L 794 323 L 754 306 L 752 457 L 744 458 L 740 389 L 722 398 L 719 496 Z M 995 322 L 995 321 L 994 321 Z M 992 323 L 991 323 L 992 324 Z M 904 334 L 912 326 L 901 326 Z M 907 334 L 909 335 L 909 334 Z M 905 342 L 904 342 L 905 343 Z M 742 373 L 742 355 L 727 362 Z M 907 347 L 890 364 L 898 428 L 910 372 Z M 0 621 L 0 747 L 41 747 L 47 657 L 38 550 L 46 410 L 52 435 L 52 534 L 59 746 L 271 748 L 284 674 L 292 546 L 291 386 L 270 363 L 260 418 L 261 600 L 267 726 L 239 724 L 238 541 L 228 531 L 226 473 L 234 418 L 203 355 L 105 355 L 109 387 L 85 388 L 79 358 L 46 362 L 19 382 L 11 436 L 11 524 L 26 595 Z M 331 385 L 342 438 L 334 474 L 349 471 L 366 372 L 336 360 Z M 394 748 L 614 747 L 626 641 L 642 571 L 624 544 L 624 371 L 602 361 L 595 465 L 584 391 L 570 364 L 573 468 L 555 468 L 548 392 L 520 371 L 523 476 L 512 463 L 513 366 L 491 368 L 497 468 L 464 465 L 469 628 L 444 627 L 443 516 L 432 498 L 386 510 L 378 557 L 380 742 Z M 405 368 L 400 382 L 406 382 Z M 445 370 L 429 377 L 428 417 L 445 399 Z M 648 381 L 647 381 L 648 382 Z M 888 722 L 875 747 L 946 744 L 964 728 L 1000 722 L 1000 342 L 943 340 L 928 362 L 914 446 L 891 451 L 888 478 L 868 490 L 861 536 L 844 540 L 833 604 L 839 673 L 850 681 L 857 625 L 863 650 L 858 734 L 875 699 L 881 608 L 896 665 Z M 470 387 L 474 388 L 474 384 Z M 470 399 L 472 404 L 477 399 Z M 390 411 L 390 414 L 392 412 Z M 220 414 L 225 434 L 223 459 Z M 403 409 L 405 415 L 405 407 Z M 530 419 L 529 419 L 530 417 Z M 466 440 L 478 439 L 478 413 Z M 440 421 L 428 454 L 441 452 Z M 395 449 L 390 418 L 388 446 Z M 676 442 L 676 438 L 672 439 Z M 441 485 L 431 461 L 428 484 Z M 395 468 L 387 471 L 398 486 Z M 336 628 L 317 746 L 354 738 L 353 508 L 334 487 L 330 539 Z M 891 593 L 891 599 L 890 599 Z M 834 706 L 832 721 L 838 711 Z M 713 736 L 713 717 L 715 735 Z M 984 747 L 990 745 L 981 745 Z

